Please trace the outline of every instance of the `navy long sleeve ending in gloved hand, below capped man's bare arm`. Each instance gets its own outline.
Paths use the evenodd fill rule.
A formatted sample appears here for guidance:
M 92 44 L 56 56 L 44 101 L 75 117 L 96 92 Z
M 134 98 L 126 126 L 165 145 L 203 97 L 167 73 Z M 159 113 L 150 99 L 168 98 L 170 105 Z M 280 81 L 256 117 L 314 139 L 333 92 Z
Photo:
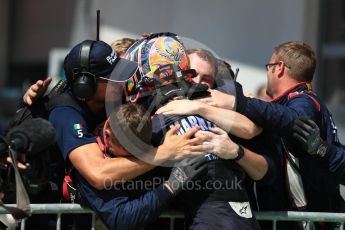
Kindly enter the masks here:
M 97 190 L 80 174 L 76 173 L 76 176 L 82 197 L 109 229 L 140 229 L 156 220 L 173 199 L 163 185 L 133 199 L 125 189 L 121 189 L 121 184 L 111 189 Z

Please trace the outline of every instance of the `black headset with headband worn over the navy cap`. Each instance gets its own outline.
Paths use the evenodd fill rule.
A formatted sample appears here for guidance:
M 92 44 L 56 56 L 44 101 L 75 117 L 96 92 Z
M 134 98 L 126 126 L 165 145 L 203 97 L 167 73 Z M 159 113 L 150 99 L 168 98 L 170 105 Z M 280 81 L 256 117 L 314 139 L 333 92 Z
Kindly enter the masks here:
M 73 72 L 71 89 L 73 95 L 82 101 L 89 100 L 96 92 L 97 77 L 90 73 L 89 58 L 94 41 L 86 40 L 80 48 L 80 67 Z

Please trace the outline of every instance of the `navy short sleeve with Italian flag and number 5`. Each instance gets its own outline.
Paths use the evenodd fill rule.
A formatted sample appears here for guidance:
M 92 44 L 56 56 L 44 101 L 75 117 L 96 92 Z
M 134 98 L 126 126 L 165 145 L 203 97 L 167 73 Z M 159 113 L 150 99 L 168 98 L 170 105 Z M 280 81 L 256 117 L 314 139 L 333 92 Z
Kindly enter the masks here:
M 56 131 L 56 143 L 68 159 L 68 154 L 82 145 L 97 143 L 92 130 L 80 112 L 72 107 L 63 106 L 54 108 L 49 115 L 49 121 Z

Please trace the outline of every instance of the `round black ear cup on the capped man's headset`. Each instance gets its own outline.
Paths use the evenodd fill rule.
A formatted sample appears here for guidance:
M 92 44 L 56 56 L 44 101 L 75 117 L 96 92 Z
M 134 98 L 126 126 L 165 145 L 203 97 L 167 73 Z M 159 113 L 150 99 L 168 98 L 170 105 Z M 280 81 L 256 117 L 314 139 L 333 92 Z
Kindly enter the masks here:
M 88 72 L 78 73 L 72 82 L 73 95 L 82 101 L 92 98 L 96 92 L 97 79 Z

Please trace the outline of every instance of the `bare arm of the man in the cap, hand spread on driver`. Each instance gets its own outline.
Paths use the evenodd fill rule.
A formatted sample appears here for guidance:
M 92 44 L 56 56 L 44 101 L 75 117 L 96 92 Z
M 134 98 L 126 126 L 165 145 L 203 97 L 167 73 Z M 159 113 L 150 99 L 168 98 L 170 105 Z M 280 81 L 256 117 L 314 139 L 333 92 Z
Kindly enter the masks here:
M 212 151 L 212 145 L 203 144 L 207 137 L 190 139 L 198 131 L 198 127 L 181 136 L 175 135 L 178 129 L 179 126 L 171 128 L 166 134 L 164 143 L 147 153 L 146 162 L 149 163 L 135 157 L 104 159 L 96 143 L 74 149 L 69 154 L 69 160 L 93 187 L 104 189 L 142 175 L 166 160 L 179 160 Z

